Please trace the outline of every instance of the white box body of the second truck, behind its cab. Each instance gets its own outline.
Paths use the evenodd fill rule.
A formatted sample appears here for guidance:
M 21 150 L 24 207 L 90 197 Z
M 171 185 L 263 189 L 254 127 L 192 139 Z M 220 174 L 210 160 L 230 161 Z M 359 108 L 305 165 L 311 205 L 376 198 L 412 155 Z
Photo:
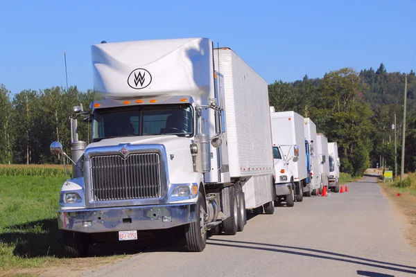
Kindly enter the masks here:
M 270 114 L 272 120 L 273 145 L 278 145 L 288 168 L 293 173 L 296 201 L 302 202 L 303 194 L 309 191 L 306 178 L 306 148 L 304 118 L 295 111 L 278 111 Z M 295 159 L 293 159 L 295 158 Z

